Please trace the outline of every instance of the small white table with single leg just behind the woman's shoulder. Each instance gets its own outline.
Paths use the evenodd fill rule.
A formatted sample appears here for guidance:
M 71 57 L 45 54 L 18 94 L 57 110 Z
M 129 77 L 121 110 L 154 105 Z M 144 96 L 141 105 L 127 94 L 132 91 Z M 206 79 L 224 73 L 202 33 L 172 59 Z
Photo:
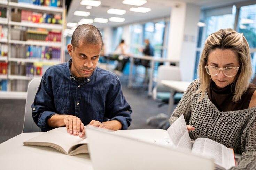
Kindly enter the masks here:
M 175 92 L 184 93 L 191 82 L 162 80 L 161 83 L 164 86 L 170 88 L 171 95 L 169 98 L 168 113 L 170 114 L 169 116 L 171 116 L 171 114 L 172 114 L 171 111 L 174 106 L 174 97 L 173 96 L 174 96 Z

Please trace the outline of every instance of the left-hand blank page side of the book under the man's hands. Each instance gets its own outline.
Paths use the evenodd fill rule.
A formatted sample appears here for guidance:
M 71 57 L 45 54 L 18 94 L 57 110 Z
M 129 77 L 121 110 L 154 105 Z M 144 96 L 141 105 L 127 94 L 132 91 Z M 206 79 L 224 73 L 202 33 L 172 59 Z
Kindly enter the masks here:
M 28 141 L 25 141 L 25 145 L 39 145 L 39 146 L 51 146 L 57 150 L 68 154 L 69 149 L 76 145 L 82 144 L 84 138 L 79 136 L 70 135 L 67 133 L 66 127 L 59 127 L 53 130 L 47 131 L 39 136 L 36 136 Z M 83 141 L 83 142 L 82 142 Z

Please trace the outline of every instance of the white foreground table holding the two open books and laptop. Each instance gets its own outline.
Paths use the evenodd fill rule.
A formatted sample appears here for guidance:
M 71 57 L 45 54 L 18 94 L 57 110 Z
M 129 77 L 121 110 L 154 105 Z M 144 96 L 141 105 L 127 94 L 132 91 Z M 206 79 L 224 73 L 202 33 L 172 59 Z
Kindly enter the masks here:
M 54 148 L 46 146 L 24 146 L 23 142 L 43 132 L 22 133 L 0 144 L 1 170 L 92 170 L 88 154 L 76 156 L 65 155 Z M 148 142 L 162 137 L 168 138 L 167 131 L 162 129 L 118 130 L 115 133 L 132 135 Z

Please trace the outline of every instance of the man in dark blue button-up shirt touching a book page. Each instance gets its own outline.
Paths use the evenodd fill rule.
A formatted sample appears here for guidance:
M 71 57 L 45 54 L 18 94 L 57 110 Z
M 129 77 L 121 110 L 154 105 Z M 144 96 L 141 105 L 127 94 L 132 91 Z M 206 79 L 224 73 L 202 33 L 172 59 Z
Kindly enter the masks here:
M 96 67 L 102 36 L 92 25 L 78 26 L 67 46 L 66 63 L 48 68 L 42 76 L 32 116 L 42 131 L 66 126 L 83 137 L 84 125 L 111 130 L 127 129 L 132 113 L 118 77 Z

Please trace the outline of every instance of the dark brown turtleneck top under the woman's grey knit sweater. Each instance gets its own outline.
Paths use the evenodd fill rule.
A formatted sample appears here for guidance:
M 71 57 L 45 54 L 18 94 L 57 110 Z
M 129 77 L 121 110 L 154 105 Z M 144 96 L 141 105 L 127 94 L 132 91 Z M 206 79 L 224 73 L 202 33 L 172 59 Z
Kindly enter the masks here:
M 242 95 L 241 99 L 235 103 L 232 100 L 235 92 L 235 83 L 236 82 L 233 82 L 224 88 L 218 88 L 214 81 L 212 81 L 212 79 L 210 80 L 207 95 L 219 111 L 242 110 L 249 107 L 251 96 L 256 90 L 256 86 L 250 83 L 247 91 Z

